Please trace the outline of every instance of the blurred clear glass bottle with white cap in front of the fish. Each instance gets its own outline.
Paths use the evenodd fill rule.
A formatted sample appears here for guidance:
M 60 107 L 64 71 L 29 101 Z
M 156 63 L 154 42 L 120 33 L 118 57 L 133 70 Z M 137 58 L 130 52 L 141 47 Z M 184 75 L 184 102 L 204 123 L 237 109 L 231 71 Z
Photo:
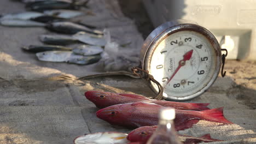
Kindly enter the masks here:
M 158 128 L 147 141 L 147 144 L 182 144 L 174 129 L 175 110 L 166 107 L 159 112 Z

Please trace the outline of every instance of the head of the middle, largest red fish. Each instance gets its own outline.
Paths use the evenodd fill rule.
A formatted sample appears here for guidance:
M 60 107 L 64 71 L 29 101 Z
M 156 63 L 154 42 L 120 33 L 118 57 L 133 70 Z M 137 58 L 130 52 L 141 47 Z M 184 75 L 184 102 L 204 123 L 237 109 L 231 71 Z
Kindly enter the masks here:
M 111 124 L 124 125 L 131 113 L 132 110 L 129 104 L 118 104 L 98 110 L 96 116 Z

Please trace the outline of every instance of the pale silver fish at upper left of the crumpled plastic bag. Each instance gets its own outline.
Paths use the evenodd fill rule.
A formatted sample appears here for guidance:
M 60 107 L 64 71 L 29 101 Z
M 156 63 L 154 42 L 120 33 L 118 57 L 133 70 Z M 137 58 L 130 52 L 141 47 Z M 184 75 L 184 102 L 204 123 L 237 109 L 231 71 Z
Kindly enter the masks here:
M 105 46 L 107 43 L 102 35 L 90 34 L 86 32 L 76 33 L 73 35 L 73 38 L 81 41 L 82 43 L 90 45 Z

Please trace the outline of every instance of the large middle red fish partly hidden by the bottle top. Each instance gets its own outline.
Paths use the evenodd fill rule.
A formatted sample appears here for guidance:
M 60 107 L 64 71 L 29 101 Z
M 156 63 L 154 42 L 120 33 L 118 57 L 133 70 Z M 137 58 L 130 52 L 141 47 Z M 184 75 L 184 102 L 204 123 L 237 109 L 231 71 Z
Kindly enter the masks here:
M 161 108 L 164 106 L 146 102 L 118 104 L 98 110 L 96 116 L 110 124 L 126 127 L 153 126 L 158 124 L 158 112 Z M 191 128 L 199 120 L 231 124 L 223 116 L 223 107 L 205 111 L 175 111 L 174 123 L 177 131 Z

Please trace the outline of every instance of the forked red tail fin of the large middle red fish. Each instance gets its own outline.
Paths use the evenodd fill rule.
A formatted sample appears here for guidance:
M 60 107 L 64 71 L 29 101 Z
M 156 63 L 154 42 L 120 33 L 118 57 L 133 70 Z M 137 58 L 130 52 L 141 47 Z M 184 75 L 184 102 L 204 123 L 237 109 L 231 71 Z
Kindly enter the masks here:
M 228 121 L 228 119 L 224 117 L 223 107 L 201 111 L 201 114 L 202 114 L 201 118 L 208 121 L 232 124 L 232 122 Z

